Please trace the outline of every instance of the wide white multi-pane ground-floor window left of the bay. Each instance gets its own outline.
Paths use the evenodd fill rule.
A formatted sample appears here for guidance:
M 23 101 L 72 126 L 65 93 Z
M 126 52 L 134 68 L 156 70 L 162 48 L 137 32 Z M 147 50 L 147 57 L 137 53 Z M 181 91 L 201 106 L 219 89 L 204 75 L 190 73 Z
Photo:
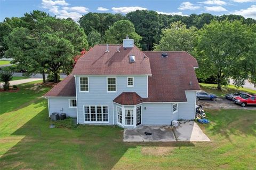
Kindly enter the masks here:
M 108 123 L 108 106 L 84 106 L 84 122 Z

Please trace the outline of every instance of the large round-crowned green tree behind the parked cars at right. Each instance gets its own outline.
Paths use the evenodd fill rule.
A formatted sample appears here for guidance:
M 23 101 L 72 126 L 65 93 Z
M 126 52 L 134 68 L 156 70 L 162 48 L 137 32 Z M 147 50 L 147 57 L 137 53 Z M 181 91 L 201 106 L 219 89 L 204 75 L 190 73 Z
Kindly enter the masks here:
M 252 43 L 252 31 L 242 21 L 212 21 L 199 31 L 196 58 L 199 75 L 217 78 L 218 89 L 229 78 L 243 85 L 244 63 Z

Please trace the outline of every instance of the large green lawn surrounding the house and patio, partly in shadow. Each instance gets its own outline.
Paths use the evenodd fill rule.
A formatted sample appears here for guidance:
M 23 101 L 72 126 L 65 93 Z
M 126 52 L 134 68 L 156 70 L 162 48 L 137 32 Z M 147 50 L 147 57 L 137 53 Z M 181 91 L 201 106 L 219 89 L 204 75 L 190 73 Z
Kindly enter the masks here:
M 200 126 L 211 142 L 124 143 L 119 127 L 49 128 L 47 102 L 39 98 L 49 88 L 33 83 L 22 88 L 0 93 L 1 108 L 11 107 L 0 115 L 1 169 L 256 167 L 255 111 L 207 110 L 211 124 Z

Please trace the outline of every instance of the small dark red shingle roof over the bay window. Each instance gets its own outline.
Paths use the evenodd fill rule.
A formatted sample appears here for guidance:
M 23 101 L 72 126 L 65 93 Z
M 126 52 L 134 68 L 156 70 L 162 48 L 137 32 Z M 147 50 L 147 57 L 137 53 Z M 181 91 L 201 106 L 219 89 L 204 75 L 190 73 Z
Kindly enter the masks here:
M 122 105 L 136 105 L 142 102 L 141 96 L 135 92 L 123 92 L 113 101 Z

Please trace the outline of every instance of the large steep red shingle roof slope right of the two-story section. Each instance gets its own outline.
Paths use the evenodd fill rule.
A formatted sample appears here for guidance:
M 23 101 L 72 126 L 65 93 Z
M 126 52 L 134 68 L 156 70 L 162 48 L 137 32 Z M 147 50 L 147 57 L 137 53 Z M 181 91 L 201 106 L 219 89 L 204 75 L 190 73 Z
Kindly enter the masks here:
M 185 102 L 185 91 L 200 90 L 194 67 L 196 59 L 187 52 L 145 52 L 152 76 L 148 78 L 148 98 L 144 102 Z M 190 85 L 191 82 L 191 85 Z

